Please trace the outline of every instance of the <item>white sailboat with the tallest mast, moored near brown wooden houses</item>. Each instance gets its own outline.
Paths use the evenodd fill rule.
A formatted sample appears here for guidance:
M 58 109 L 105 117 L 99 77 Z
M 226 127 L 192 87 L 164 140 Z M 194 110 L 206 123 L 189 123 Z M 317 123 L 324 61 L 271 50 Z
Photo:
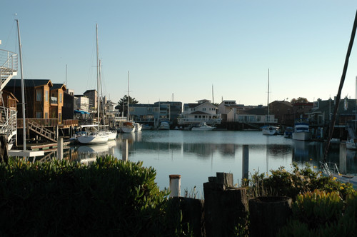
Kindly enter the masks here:
M 99 93 L 99 49 L 98 49 L 98 24 L 96 24 L 96 84 Z M 98 128 L 99 128 L 99 107 L 100 101 L 99 96 L 97 96 L 98 100 Z M 105 131 L 94 131 L 84 136 L 79 136 L 78 141 L 83 144 L 98 144 L 98 143 L 106 143 L 109 139 L 109 134 Z

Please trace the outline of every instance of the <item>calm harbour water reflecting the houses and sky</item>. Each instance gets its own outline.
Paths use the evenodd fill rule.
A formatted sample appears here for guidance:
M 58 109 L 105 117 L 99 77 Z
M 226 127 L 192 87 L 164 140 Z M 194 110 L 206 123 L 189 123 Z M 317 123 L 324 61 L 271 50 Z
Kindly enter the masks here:
M 284 166 L 291 170 L 293 162 L 307 162 L 319 169 L 324 143 L 293 141 L 283 136 L 264 136 L 261 131 L 141 131 L 118 134 L 116 141 L 105 146 L 71 147 L 71 159 L 95 158 L 112 154 L 122 158 L 121 142 L 129 140 L 129 161 L 143 161 L 156 169 L 156 182 L 161 189 L 169 187 L 169 175 L 181 174 L 181 195 L 193 190 L 203 193 L 203 183 L 216 172 L 233 173 L 240 183 L 243 173 L 242 150 L 248 145 L 248 171 L 267 172 Z M 328 161 L 339 165 L 339 145 L 333 144 Z M 357 173 L 356 152 L 347 151 L 345 173 Z

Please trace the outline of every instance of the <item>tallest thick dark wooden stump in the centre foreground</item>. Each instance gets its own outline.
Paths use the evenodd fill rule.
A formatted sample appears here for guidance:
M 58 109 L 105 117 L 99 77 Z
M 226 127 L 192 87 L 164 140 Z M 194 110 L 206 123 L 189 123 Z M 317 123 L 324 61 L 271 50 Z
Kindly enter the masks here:
M 203 192 L 206 236 L 234 236 L 246 218 L 246 189 L 233 187 L 232 173 L 217 173 L 203 183 Z

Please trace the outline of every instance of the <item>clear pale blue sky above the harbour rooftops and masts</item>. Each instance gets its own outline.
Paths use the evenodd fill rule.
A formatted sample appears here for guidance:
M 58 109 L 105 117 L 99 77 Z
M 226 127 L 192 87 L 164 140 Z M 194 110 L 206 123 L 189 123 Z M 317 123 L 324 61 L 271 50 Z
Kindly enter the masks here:
M 104 94 L 139 103 L 200 99 L 267 103 L 336 96 L 356 0 L 4 0 L 0 49 L 16 51 L 24 76 L 83 94 L 96 89 L 96 30 Z M 17 14 L 17 16 L 14 16 Z M 342 97 L 356 98 L 357 39 Z

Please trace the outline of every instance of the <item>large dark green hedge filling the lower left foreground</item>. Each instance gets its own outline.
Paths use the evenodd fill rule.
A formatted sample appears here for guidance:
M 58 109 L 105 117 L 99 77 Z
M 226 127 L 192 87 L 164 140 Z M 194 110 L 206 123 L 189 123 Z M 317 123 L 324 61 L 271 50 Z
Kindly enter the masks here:
M 97 158 L 0 164 L 0 236 L 174 236 L 154 168 Z M 182 233 L 181 233 L 182 235 Z

